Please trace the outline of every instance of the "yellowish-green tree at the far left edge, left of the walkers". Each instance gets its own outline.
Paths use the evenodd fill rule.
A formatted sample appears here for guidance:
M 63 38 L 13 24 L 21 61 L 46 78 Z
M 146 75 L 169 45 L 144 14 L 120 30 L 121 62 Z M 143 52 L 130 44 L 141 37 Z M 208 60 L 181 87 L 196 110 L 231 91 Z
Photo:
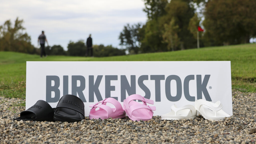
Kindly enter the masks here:
M 14 51 L 22 53 L 34 53 L 35 48 L 31 45 L 31 38 L 22 26 L 23 20 L 18 17 L 14 25 L 7 20 L 0 26 L 0 51 Z

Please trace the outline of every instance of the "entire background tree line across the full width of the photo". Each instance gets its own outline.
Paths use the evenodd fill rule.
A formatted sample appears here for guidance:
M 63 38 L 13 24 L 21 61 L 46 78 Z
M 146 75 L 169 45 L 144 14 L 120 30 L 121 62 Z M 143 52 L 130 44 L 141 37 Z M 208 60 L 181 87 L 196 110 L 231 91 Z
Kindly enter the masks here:
M 165 52 L 197 47 L 249 43 L 256 37 L 255 0 L 144 0 L 145 24 L 126 24 L 119 35 L 118 49 L 112 45 L 94 45 L 94 56 Z M 23 20 L 14 25 L 7 20 L 0 26 L 0 51 L 39 54 L 24 31 Z M 84 40 L 70 41 L 68 50 L 60 45 L 46 47 L 50 55 L 85 56 Z

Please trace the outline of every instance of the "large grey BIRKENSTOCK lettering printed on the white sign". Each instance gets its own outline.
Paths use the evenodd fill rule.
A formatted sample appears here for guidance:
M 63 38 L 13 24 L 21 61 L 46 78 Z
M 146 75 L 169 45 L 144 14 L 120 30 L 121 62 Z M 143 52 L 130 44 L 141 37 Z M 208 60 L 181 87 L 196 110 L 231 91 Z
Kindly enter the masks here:
M 97 101 L 103 100 L 100 93 L 99 85 L 102 82 L 103 75 L 98 75 L 94 82 L 94 76 L 89 75 L 89 102 L 94 102 L 94 94 L 97 98 Z M 111 85 L 111 81 L 118 80 L 118 75 L 105 75 L 105 98 L 109 98 L 110 92 L 115 91 L 115 86 Z M 120 84 L 121 84 L 121 102 L 126 99 L 126 92 L 131 94 L 136 94 L 136 76 L 130 75 L 131 81 L 127 80 L 126 75 L 120 75 Z M 197 99 L 202 99 L 202 93 L 207 101 L 212 101 L 211 97 L 207 91 L 207 84 L 210 79 L 210 75 L 205 75 L 202 80 L 202 75 L 188 75 L 185 77 L 184 81 L 177 75 L 169 75 L 165 78 L 165 75 L 141 75 L 138 77 L 137 85 L 145 92 L 145 98 L 150 99 L 151 91 L 143 83 L 146 80 L 153 80 L 155 83 L 155 101 L 161 101 L 161 86 L 160 81 L 165 80 L 165 96 L 169 101 L 179 101 L 182 97 L 184 91 L 184 96 L 188 101 L 195 101 L 195 96 L 189 94 L 189 82 L 195 80 L 196 77 L 196 89 L 197 89 Z M 72 95 L 77 95 L 83 102 L 87 102 L 84 97 L 84 90 L 86 88 L 86 79 L 81 75 L 71 76 L 71 87 Z M 176 96 L 171 94 L 171 81 L 176 81 Z M 77 81 L 80 81 L 80 86 L 77 86 Z M 183 82 L 183 84 L 182 84 Z M 52 86 L 54 84 L 54 86 Z M 47 102 L 57 102 L 60 99 L 60 77 L 51 75 L 46 76 L 46 101 Z M 182 90 L 183 88 L 183 90 Z M 175 90 L 174 90 L 175 91 Z M 55 96 L 52 96 L 52 92 L 55 93 Z M 63 76 L 63 95 L 68 94 L 68 76 Z M 112 97 L 118 100 L 118 97 Z

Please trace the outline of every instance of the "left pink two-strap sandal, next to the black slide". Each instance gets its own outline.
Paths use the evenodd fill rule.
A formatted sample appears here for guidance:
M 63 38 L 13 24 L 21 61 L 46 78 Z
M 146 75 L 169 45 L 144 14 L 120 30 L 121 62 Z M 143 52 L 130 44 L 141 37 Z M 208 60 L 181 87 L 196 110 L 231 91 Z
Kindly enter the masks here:
M 106 105 L 106 103 L 109 102 L 115 106 L 115 108 L 111 108 Z M 102 104 L 100 104 L 102 103 Z M 114 98 L 106 98 L 104 100 L 101 100 L 97 102 L 94 105 L 90 105 L 91 111 L 89 114 L 89 119 L 108 119 L 110 117 L 114 118 L 124 118 L 125 112 L 122 108 L 122 105 L 119 101 L 117 101 Z M 96 110 L 96 108 L 99 108 Z

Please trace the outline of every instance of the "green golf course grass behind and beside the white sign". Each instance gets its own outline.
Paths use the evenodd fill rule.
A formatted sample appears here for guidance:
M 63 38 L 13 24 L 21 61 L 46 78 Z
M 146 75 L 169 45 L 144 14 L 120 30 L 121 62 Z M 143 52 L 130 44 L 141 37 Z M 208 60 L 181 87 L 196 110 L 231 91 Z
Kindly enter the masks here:
M 231 61 L 232 88 L 256 92 L 256 44 L 207 47 L 176 52 L 103 58 L 29 55 L 0 52 L 0 94 L 25 98 L 26 61 Z M 2 92 L 3 91 L 3 94 Z

